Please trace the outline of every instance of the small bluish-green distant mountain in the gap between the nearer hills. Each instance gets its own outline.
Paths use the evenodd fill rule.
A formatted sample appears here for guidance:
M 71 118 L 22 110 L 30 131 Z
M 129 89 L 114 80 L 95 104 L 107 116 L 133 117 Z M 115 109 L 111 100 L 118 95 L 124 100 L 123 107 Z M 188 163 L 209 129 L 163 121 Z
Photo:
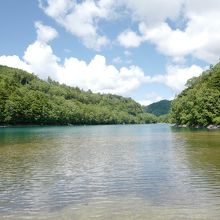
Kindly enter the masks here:
M 170 112 L 171 101 L 161 100 L 144 107 L 144 111 L 156 116 L 166 115 Z

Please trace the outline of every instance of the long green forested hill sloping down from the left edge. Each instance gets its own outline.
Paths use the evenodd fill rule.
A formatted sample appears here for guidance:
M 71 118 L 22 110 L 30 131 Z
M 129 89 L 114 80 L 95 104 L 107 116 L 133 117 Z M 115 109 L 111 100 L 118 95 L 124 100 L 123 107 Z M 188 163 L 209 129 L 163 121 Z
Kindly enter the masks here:
M 101 95 L 40 80 L 25 71 L 0 66 L 1 125 L 151 123 L 131 98 Z

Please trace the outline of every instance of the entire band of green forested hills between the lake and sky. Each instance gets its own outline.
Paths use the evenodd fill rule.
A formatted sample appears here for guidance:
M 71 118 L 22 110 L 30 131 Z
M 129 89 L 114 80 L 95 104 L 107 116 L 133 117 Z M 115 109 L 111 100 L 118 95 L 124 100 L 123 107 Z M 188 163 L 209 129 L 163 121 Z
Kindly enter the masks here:
M 170 111 L 171 105 L 171 111 Z M 0 125 L 96 125 L 172 122 L 220 125 L 220 63 L 187 81 L 172 102 L 141 106 L 131 98 L 92 93 L 0 65 Z

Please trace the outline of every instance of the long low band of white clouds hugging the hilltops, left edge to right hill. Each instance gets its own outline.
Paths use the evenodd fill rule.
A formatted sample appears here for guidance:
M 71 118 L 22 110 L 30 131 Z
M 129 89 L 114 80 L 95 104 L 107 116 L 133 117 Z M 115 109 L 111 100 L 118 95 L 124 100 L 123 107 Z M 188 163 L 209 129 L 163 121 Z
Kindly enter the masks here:
M 155 82 L 165 84 L 178 93 L 185 88 L 184 85 L 188 79 L 200 75 L 203 71 L 196 65 L 190 67 L 169 65 L 166 74 L 150 77 L 146 76 L 143 70 L 137 66 L 117 69 L 114 65 L 108 65 L 105 57 L 101 55 L 96 55 L 89 63 L 70 57 L 66 58 L 62 64 L 47 43 L 57 34 L 54 34 L 53 37 L 51 34 L 49 34 L 50 37 L 42 37 L 41 28 L 45 29 L 45 27 L 49 28 L 42 24 L 36 26 L 37 40 L 27 47 L 22 59 L 15 55 L 0 56 L 0 64 L 34 72 L 42 79 L 50 76 L 61 83 L 78 86 L 84 90 L 91 89 L 93 92 L 120 95 L 129 95 L 143 83 Z M 52 29 L 49 28 L 49 30 Z M 152 95 L 140 103 L 149 104 L 161 99 L 161 96 Z

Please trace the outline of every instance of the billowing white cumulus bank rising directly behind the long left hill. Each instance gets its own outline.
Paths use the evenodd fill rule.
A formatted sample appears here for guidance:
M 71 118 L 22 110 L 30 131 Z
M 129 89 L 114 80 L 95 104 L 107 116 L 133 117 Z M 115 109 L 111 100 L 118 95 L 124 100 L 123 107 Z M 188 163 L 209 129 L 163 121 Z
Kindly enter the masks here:
M 117 69 L 108 65 L 101 55 L 96 55 L 89 63 L 75 57 L 66 58 L 61 63 L 48 44 L 57 36 L 56 31 L 42 23 L 35 26 L 37 40 L 27 47 L 23 58 L 0 56 L 0 64 L 34 72 L 42 79 L 50 76 L 60 83 L 81 89 L 120 95 L 128 95 L 150 79 L 137 66 Z M 49 36 L 45 36 L 45 30 L 49 30 Z

